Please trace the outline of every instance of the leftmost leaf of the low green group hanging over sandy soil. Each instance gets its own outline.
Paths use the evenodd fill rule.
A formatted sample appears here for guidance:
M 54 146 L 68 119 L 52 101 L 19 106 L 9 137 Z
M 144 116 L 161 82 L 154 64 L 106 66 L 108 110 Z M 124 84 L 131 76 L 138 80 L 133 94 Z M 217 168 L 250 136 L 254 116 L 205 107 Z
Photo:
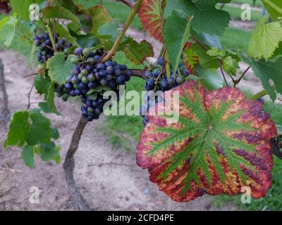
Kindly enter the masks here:
M 23 146 L 30 131 L 28 122 L 30 115 L 24 111 L 14 113 L 11 119 L 8 138 L 4 142 L 4 147 L 8 146 Z

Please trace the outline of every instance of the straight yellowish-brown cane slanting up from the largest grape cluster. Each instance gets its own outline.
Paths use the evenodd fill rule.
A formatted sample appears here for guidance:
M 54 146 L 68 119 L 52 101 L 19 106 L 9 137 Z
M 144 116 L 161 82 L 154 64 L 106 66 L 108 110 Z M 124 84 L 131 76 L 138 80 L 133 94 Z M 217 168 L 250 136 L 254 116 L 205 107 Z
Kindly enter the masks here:
M 106 62 L 106 60 L 109 60 L 114 56 L 116 51 L 118 50 L 118 46 L 121 43 L 121 40 L 123 39 L 125 32 L 128 30 L 128 27 L 133 22 L 133 19 L 135 18 L 135 15 L 140 10 L 142 4 L 142 0 L 138 0 L 135 4 L 135 6 L 132 8 L 130 14 L 128 15 L 127 20 L 125 21 L 123 30 L 120 34 L 118 34 L 118 37 L 116 38 L 116 41 L 114 42 L 114 46 L 111 48 L 111 50 L 106 54 L 106 56 L 103 58 L 102 63 Z

